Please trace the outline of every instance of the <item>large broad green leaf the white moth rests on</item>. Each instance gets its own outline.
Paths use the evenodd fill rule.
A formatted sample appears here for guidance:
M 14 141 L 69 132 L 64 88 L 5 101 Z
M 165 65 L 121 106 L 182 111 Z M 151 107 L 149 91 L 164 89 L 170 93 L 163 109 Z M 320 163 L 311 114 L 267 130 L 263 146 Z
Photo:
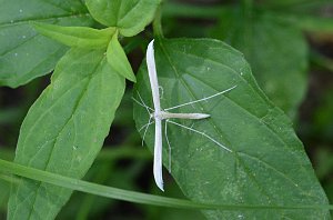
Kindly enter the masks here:
M 199 100 L 236 86 L 230 92 L 171 112 L 209 113 L 204 120 L 172 121 L 213 138 L 168 123 L 171 174 L 186 197 L 204 203 L 303 206 L 327 204 L 302 142 L 289 118 L 258 87 L 243 56 L 218 40 L 157 40 L 155 61 L 161 108 Z M 134 98 L 152 107 L 145 64 L 139 70 Z M 148 123 L 147 109 L 134 104 L 134 120 Z M 165 128 L 163 126 L 163 133 Z M 141 136 L 144 129 L 140 130 Z M 154 124 L 145 142 L 154 146 Z M 163 163 L 169 167 L 163 140 Z M 152 174 L 151 174 L 151 178 Z M 168 182 L 165 184 L 168 191 Z M 209 219 L 329 219 L 327 211 L 204 211 Z

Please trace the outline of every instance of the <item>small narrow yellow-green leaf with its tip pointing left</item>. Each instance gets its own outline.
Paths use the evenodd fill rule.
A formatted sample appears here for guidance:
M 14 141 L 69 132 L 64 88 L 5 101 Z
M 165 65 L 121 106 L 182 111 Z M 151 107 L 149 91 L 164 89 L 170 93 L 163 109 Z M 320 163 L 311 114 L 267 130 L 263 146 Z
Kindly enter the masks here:
M 84 49 L 104 49 L 108 47 L 114 28 L 102 30 L 88 27 L 61 27 L 47 23 L 33 23 L 39 33 L 69 47 Z

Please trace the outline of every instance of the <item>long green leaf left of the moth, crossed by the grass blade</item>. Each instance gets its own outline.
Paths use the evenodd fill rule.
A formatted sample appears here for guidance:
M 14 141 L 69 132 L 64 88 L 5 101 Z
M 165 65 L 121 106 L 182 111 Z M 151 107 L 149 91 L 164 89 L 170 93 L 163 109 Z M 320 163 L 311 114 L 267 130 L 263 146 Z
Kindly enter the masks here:
M 23 121 L 14 162 L 82 178 L 109 133 L 123 92 L 124 78 L 108 64 L 104 50 L 70 50 Z M 9 219 L 53 219 L 70 194 L 21 179 L 10 196 Z

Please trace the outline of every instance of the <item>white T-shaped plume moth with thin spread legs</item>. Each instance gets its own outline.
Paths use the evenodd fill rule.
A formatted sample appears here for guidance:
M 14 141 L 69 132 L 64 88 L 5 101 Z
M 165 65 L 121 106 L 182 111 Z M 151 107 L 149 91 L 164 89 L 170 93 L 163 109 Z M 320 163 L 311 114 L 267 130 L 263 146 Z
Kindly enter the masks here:
M 162 121 L 165 120 L 165 138 L 167 138 L 167 142 L 169 146 L 169 152 L 171 150 L 170 148 L 170 142 L 168 140 L 167 137 L 167 122 L 170 122 L 172 124 L 179 126 L 181 128 L 188 129 L 192 132 L 199 133 L 205 138 L 208 138 L 210 141 L 214 142 L 215 144 L 218 144 L 219 147 L 223 148 L 224 150 L 226 150 L 228 152 L 232 152 L 232 150 L 230 150 L 229 148 L 226 148 L 225 146 L 223 146 L 222 143 L 220 143 L 219 141 L 216 141 L 215 139 L 213 139 L 212 137 L 208 136 L 204 132 L 198 131 L 193 128 L 176 123 L 174 121 L 171 121 L 170 119 L 193 119 L 193 120 L 198 120 L 198 119 L 206 119 L 210 117 L 210 114 L 206 113 L 171 113 L 169 112 L 169 110 L 173 110 L 176 108 L 181 108 L 184 106 L 189 106 L 189 104 L 193 104 L 196 102 L 201 102 L 201 101 L 206 101 L 209 99 L 212 99 L 214 97 L 218 97 L 220 94 L 223 94 L 232 89 L 234 89 L 236 86 L 229 88 L 226 90 L 223 90 L 221 92 L 218 92 L 213 96 L 203 98 L 203 99 L 199 99 L 199 100 L 194 100 L 188 103 L 183 103 L 183 104 L 179 104 L 175 107 L 171 107 L 168 109 L 162 109 L 161 108 L 161 102 L 160 102 L 160 91 L 159 91 L 159 82 L 158 82 L 158 74 L 157 74 L 157 67 L 155 67 L 155 58 L 154 58 L 154 48 L 153 48 L 153 43 L 154 40 L 152 40 L 147 49 L 147 67 L 148 67 L 148 73 L 149 73 L 149 80 L 150 80 L 150 86 L 151 86 L 151 91 L 152 91 L 152 98 L 153 98 L 153 106 L 154 109 L 148 107 L 144 102 L 143 99 L 141 98 L 141 96 L 138 93 L 140 101 L 135 100 L 134 101 L 137 103 L 139 103 L 140 106 L 144 107 L 147 109 L 147 111 L 150 113 L 150 119 L 149 122 L 143 126 L 140 131 L 142 129 L 144 130 L 143 133 L 143 140 L 148 130 L 148 127 L 152 123 L 155 124 L 155 139 L 154 139 L 154 161 L 153 161 L 153 176 L 154 176 L 154 180 L 157 186 L 162 190 L 163 190 L 163 178 L 162 178 Z M 154 121 L 152 121 L 152 119 Z M 170 162 L 170 158 L 169 157 L 169 164 L 171 164 Z

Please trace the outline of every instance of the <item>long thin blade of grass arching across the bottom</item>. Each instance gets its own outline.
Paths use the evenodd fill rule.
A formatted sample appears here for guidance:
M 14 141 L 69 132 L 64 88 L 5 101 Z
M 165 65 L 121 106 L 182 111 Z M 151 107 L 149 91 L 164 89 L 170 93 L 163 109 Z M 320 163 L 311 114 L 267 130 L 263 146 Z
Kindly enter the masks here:
M 105 187 L 83 180 L 78 180 L 69 177 L 63 177 L 60 174 L 54 174 L 51 172 L 37 170 L 33 168 L 17 164 L 14 162 L 9 162 L 6 160 L 0 160 L 0 172 L 8 174 L 17 174 L 20 177 L 33 179 L 37 181 L 47 182 L 50 184 L 56 184 L 58 187 L 63 187 L 71 190 L 77 190 L 85 193 L 91 193 L 95 196 L 101 196 L 111 199 L 118 199 L 122 201 L 160 206 L 168 208 L 181 208 L 181 209 L 223 209 L 223 210 L 260 210 L 260 209 L 326 209 L 333 210 L 333 206 L 253 206 L 253 204 L 205 204 L 195 203 L 189 200 L 159 197 L 153 194 L 147 194 L 142 192 L 134 192 L 130 190 L 122 190 L 112 187 Z M 0 176 L 1 178 L 1 176 Z

